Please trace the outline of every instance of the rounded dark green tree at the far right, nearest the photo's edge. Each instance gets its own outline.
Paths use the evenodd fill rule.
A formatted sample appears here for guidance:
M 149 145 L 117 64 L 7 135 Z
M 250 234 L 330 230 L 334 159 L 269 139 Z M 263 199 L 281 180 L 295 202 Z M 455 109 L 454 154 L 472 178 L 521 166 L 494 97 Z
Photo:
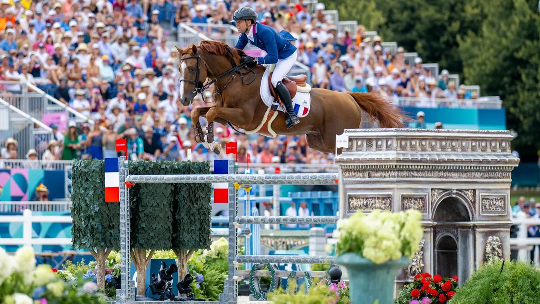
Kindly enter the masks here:
M 460 39 L 464 76 L 479 84 L 484 95 L 500 96 L 507 109 L 507 129 L 518 137 L 512 144 L 536 161 L 540 148 L 540 16 L 538 2 L 485 0 L 480 32 Z M 528 155 L 527 155 L 528 154 Z

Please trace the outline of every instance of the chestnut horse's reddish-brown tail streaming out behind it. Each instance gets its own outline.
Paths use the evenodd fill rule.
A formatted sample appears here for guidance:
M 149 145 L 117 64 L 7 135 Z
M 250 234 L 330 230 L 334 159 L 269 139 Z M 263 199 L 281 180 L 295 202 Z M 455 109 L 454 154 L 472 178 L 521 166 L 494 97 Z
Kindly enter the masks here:
M 401 110 L 393 106 L 386 98 L 377 93 L 347 93 L 354 98 L 360 108 L 379 121 L 382 128 L 402 127 L 410 120 Z

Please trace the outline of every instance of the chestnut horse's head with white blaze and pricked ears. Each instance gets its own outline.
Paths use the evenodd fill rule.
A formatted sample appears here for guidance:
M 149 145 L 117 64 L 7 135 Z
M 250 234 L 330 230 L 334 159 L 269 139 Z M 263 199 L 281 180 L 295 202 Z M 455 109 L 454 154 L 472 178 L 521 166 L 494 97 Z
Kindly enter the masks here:
M 201 93 L 208 77 L 208 68 L 194 44 L 185 50 L 178 48 L 178 46 L 176 49 L 180 53 L 180 66 L 178 67 L 180 72 L 180 103 L 188 106 L 193 103 L 193 98 Z

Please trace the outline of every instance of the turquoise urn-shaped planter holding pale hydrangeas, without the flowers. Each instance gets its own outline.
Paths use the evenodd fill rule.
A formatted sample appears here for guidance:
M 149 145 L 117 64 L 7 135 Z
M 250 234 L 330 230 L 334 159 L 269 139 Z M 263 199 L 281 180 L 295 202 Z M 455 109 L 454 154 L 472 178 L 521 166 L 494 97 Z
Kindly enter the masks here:
M 349 276 L 350 300 L 353 304 L 394 303 L 394 281 L 397 272 L 410 265 L 410 259 L 402 256 L 397 261 L 375 264 L 354 253 L 336 256 L 335 264 L 345 266 Z

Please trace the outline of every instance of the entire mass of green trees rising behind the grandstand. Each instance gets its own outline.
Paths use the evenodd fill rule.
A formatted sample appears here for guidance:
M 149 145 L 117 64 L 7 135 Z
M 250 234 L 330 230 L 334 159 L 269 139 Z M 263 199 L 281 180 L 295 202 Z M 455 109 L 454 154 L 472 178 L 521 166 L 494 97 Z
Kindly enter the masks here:
M 424 63 L 480 85 L 482 96 L 500 96 L 507 129 L 524 161 L 540 148 L 540 14 L 532 0 L 325 0 L 341 21 L 356 20 L 417 52 Z M 359 12 L 358 10 L 361 10 Z

